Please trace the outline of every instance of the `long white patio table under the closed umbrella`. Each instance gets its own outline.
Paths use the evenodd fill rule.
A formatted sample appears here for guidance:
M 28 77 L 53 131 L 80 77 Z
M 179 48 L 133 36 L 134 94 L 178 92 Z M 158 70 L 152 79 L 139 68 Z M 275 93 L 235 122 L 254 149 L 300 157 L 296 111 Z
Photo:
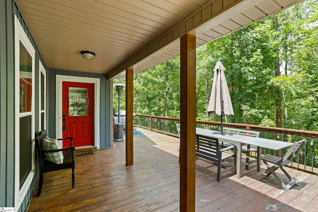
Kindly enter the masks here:
M 221 135 L 219 131 L 206 130 L 202 128 L 196 128 L 196 134 L 200 136 L 207 136 L 215 139 L 219 139 L 221 142 L 227 142 L 237 145 L 238 147 L 238 156 L 237 156 L 237 178 L 241 176 L 241 155 L 242 155 L 242 145 L 250 144 L 251 146 L 257 146 L 257 152 L 261 152 L 261 147 L 279 150 L 293 145 L 293 143 L 285 141 L 276 141 L 263 138 L 255 138 L 251 136 L 242 136 L 236 134 L 225 134 Z M 257 171 L 260 170 L 260 160 L 257 161 Z

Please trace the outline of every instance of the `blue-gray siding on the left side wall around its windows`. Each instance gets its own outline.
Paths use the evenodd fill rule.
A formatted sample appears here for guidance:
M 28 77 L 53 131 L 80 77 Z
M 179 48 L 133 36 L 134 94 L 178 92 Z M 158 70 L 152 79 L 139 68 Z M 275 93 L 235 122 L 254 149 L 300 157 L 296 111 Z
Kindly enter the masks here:
M 45 63 L 14 0 L 0 1 L 0 207 L 14 207 L 14 15 L 35 49 L 35 85 L 39 84 L 39 60 Z M 45 67 L 46 69 L 46 67 Z M 35 86 L 35 131 L 39 129 L 39 87 Z M 33 132 L 36 134 L 37 132 Z M 37 164 L 37 160 L 35 160 Z M 38 179 L 35 176 L 16 212 L 24 212 Z

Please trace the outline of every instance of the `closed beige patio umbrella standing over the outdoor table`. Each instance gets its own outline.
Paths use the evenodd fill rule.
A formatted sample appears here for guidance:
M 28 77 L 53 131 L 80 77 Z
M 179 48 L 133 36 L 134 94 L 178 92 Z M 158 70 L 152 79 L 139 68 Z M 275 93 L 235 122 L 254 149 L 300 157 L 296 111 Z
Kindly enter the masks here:
M 225 78 L 224 71 L 226 69 L 220 61 L 217 62 L 214 68 L 214 79 L 212 92 L 207 109 L 207 114 L 218 114 L 221 116 L 221 133 L 223 135 L 223 113 L 226 115 L 234 115 L 230 92 Z

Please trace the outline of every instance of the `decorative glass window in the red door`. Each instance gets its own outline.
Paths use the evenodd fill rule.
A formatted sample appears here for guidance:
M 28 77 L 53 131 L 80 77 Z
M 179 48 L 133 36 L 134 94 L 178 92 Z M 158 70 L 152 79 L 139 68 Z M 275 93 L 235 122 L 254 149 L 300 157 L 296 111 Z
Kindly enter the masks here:
M 69 89 L 69 116 L 88 116 L 87 88 L 70 87 Z

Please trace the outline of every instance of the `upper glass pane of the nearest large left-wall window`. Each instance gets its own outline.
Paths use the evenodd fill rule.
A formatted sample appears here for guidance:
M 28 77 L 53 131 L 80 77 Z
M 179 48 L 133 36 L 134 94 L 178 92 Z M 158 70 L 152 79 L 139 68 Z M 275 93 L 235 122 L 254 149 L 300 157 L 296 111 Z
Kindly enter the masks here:
M 20 42 L 20 113 L 31 112 L 32 57 Z

